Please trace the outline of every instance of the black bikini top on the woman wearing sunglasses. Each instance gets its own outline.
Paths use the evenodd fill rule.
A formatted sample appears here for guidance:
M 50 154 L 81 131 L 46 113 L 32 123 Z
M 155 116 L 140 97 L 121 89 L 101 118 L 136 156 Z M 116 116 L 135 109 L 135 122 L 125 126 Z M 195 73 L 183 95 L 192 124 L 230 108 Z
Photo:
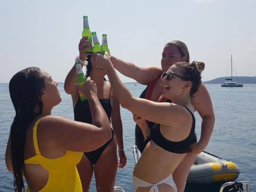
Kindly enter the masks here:
M 189 111 L 189 109 L 186 106 L 184 107 Z M 191 126 L 190 133 L 186 139 L 178 142 L 167 140 L 166 138 L 164 138 L 164 136 L 160 132 L 160 124 L 155 123 L 151 128 L 151 132 L 150 132 L 150 135 L 151 135 L 150 137 L 152 141 L 154 141 L 154 143 L 156 143 L 158 146 L 160 146 L 161 148 L 163 148 L 168 152 L 177 153 L 177 154 L 187 153 L 195 137 L 195 124 L 196 124 L 196 120 L 193 113 L 191 113 L 190 111 L 189 113 L 193 118 L 193 123 Z

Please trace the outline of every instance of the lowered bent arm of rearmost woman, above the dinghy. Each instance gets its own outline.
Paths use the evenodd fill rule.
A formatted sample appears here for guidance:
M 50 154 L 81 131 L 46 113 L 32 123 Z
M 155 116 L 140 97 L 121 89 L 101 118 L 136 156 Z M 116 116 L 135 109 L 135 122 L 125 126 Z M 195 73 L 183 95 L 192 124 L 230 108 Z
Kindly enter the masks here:
M 199 142 L 204 147 L 206 147 L 209 142 L 211 133 L 214 130 L 215 115 L 214 109 L 212 108 L 210 95 L 204 84 L 201 85 L 199 92 L 197 93 L 194 100 L 195 109 L 198 111 L 202 118 L 201 137 L 199 139 Z M 191 147 L 191 153 L 199 154 L 204 150 L 204 147 L 198 144 L 194 144 L 194 146 Z

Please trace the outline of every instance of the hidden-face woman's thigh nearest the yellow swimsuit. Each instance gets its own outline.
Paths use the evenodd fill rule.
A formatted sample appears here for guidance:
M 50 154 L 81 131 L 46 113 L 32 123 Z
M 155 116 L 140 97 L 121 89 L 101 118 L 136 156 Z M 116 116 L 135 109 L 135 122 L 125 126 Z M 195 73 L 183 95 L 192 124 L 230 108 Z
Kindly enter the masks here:
M 93 165 L 89 159 L 83 155 L 81 161 L 76 165 L 83 192 L 89 192 L 90 184 L 93 176 Z

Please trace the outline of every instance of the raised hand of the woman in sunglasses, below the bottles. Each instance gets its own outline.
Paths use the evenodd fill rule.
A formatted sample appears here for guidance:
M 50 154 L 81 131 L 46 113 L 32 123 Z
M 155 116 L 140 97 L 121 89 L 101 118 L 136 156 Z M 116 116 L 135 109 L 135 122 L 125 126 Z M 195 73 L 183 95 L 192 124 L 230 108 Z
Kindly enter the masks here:
M 104 55 L 93 53 L 91 56 L 91 62 L 94 67 L 97 67 L 103 70 L 108 70 L 111 66 L 113 66 L 110 60 L 110 56 L 106 52 Z

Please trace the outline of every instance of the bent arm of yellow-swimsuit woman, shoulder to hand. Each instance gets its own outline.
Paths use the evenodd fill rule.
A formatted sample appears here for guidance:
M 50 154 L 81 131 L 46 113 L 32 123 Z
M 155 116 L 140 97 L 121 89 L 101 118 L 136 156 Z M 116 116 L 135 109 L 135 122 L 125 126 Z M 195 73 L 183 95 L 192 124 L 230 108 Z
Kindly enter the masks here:
M 89 152 L 111 139 L 111 126 L 110 123 L 106 123 L 109 119 L 97 97 L 96 83 L 88 77 L 83 87 L 76 87 L 88 98 L 93 124 L 64 117 L 46 116 L 40 120 L 41 126 L 44 126 L 41 130 L 48 131 L 45 138 L 54 141 L 58 147 L 68 151 Z

